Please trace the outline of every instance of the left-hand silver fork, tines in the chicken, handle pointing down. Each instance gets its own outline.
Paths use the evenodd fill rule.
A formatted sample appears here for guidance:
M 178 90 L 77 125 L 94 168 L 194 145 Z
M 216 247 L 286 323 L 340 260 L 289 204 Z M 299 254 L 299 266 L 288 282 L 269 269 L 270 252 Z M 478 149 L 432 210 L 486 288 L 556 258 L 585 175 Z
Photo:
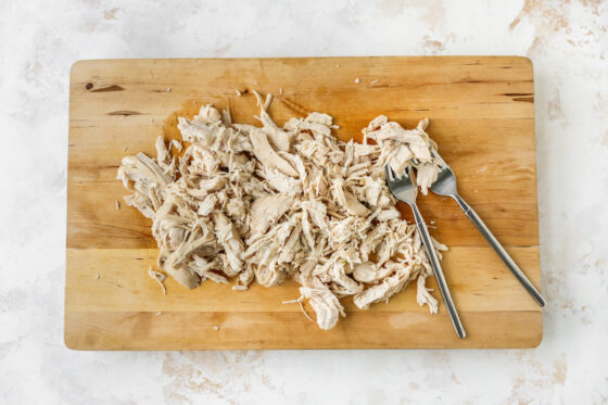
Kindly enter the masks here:
M 438 281 L 439 290 L 441 291 L 441 295 L 443 296 L 443 302 L 445 303 L 445 307 L 449 313 L 449 319 L 452 319 L 452 325 L 454 325 L 454 329 L 456 330 L 458 338 L 463 339 L 467 336 L 467 332 L 465 332 L 465 327 L 463 327 L 463 322 L 460 322 L 460 317 L 458 316 L 458 312 L 456 311 L 456 306 L 454 305 L 454 300 L 452 300 L 452 294 L 449 293 L 449 289 L 447 288 L 447 283 L 445 282 L 445 277 L 443 276 L 443 270 L 441 269 L 441 265 L 439 264 L 439 258 L 433 246 L 429 229 L 427 228 L 427 224 L 425 223 L 425 218 L 422 218 L 422 215 L 420 215 L 420 211 L 416 205 L 418 186 L 416 185 L 416 179 L 414 178 L 411 165 L 407 167 L 406 172 L 401 177 L 395 176 L 393 169 L 389 165 L 387 165 L 384 169 L 387 172 L 387 182 L 389 183 L 389 189 L 391 190 L 393 195 L 397 200 L 403 201 L 404 203 L 409 205 L 411 207 L 411 211 L 414 212 L 416 226 L 418 227 L 420 239 L 422 239 L 422 243 L 425 244 L 425 249 L 427 250 L 429 262 L 431 263 L 433 274 Z

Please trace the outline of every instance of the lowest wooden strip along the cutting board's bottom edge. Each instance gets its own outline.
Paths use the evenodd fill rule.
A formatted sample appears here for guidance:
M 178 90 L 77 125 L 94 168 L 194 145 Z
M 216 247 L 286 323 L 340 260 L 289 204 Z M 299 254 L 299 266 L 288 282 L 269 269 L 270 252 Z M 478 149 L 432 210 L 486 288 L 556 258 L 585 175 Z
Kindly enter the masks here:
M 461 312 L 468 327 L 456 342 L 446 314 L 430 319 L 416 313 L 353 313 L 331 331 L 302 321 L 299 313 L 264 312 L 71 312 L 65 344 L 78 350 L 244 349 L 505 349 L 535 346 L 542 328 L 537 311 Z M 429 324 L 433 324 L 432 333 Z M 423 339 L 422 339 L 423 338 Z

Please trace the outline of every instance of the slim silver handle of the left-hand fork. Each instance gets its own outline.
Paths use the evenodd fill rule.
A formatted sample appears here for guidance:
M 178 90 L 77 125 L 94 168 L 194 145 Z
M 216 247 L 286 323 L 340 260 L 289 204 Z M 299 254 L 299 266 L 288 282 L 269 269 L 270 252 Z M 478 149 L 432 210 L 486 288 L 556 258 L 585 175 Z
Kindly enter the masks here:
M 416 219 L 416 226 L 418 227 L 420 239 L 422 239 L 422 243 L 427 249 L 427 255 L 429 256 L 431 268 L 433 269 L 433 274 L 438 281 L 441 296 L 443 296 L 443 302 L 445 303 L 445 307 L 447 308 L 447 312 L 449 314 L 449 319 L 452 319 L 452 325 L 454 325 L 454 330 L 456 330 L 458 338 L 464 339 L 467 336 L 467 332 L 465 331 L 465 327 L 460 321 L 460 317 L 458 316 L 458 312 L 456 311 L 456 306 L 454 305 L 454 300 L 452 300 L 452 294 L 449 293 L 449 289 L 447 288 L 447 283 L 445 282 L 445 277 L 443 276 L 443 270 L 441 269 L 441 265 L 439 264 L 439 257 L 431 240 L 429 229 L 427 228 L 427 224 L 425 223 L 425 218 L 422 218 L 422 215 L 420 214 L 420 211 L 418 211 L 418 206 L 415 203 L 410 204 L 410 206 L 411 211 L 414 212 L 414 218 Z

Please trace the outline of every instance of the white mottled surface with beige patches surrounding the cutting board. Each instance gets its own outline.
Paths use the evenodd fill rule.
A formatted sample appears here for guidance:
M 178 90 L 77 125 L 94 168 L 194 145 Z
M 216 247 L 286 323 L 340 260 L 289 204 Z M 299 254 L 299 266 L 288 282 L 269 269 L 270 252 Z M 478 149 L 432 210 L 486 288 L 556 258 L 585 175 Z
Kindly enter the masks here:
M 608 402 L 608 2 L 328 3 L 0 1 L 0 403 Z M 384 54 L 533 60 L 542 287 L 548 298 L 540 347 L 65 349 L 74 61 Z

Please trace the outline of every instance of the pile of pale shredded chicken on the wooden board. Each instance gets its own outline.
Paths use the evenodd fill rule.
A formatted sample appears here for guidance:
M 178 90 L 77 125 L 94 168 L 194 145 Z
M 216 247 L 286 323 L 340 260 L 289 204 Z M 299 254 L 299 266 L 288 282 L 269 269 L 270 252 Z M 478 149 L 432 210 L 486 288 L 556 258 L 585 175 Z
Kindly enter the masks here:
M 228 111 L 205 105 L 192 119 L 178 118 L 181 156 L 181 143 L 172 142 L 172 154 L 160 137 L 156 159 L 123 159 L 117 178 L 131 192 L 125 203 L 152 220 L 157 266 L 190 289 L 236 278 L 232 289 L 246 290 L 254 280 L 275 287 L 292 278 L 302 286 L 292 302 L 307 300 L 321 329 L 345 316 L 340 299 L 352 295 L 368 308 L 414 280 L 418 303 L 435 313 L 420 237 L 401 219 L 384 178 L 387 164 L 398 174 L 416 162 L 427 192 L 438 175 L 428 121 L 404 129 L 380 115 L 363 129 L 363 143 L 342 142 L 331 116 L 312 113 L 281 128 L 267 112 L 271 96 L 254 94 L 262 127 L 233 124 Z M 164 275 L 150 275 L 164 290 Z

